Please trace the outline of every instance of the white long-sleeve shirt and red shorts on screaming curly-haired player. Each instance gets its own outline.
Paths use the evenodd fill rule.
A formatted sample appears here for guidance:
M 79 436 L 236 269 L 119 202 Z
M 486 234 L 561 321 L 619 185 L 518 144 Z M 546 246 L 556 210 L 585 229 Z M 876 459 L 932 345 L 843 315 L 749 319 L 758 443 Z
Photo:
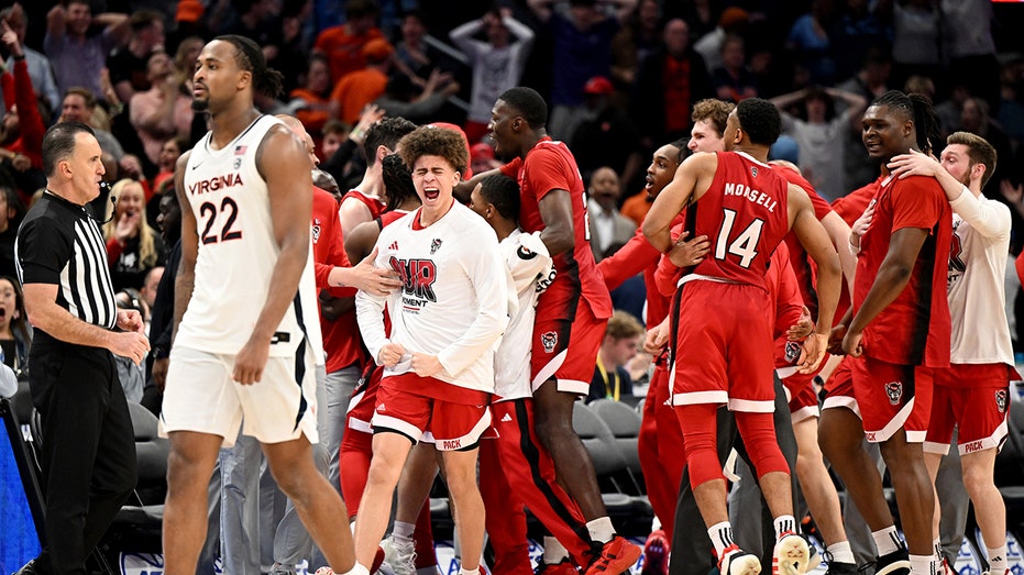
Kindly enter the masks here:
M 510 279 L 494 231 L 469 208 L 453 202 L 427 228 L 419 225 L 419 214 L 417 210 L 401 218 L 377 237 L 374 265 L 394 269 L 401 289 L 386 298 L 363 291 L 355 298 L 371 355 L 378 357 L 388 342 L 407 352 L 397 365 L 384 369 L 373 424 L 412 441 L 431 431 L 439 449 L 461 449 L 467 440 L 475 441 L 471 435 L 478 439 L 477 428 L 489 424 L 486 405 L 494 391 L 494 349 L 508 324 Z M 385 303 L 392 320 L 389 338 L 382 316 Z M 432 377 L 417 376 L 411 372 L 412 353 L 436 355 L 441 371 Z M 398 407 L 397 401 L 409 396 L 428 400 Z M 453 436 L 449 427 L 459 422 L 439 417 L 441 403 L 477 406 L 482 419 L 463 430 L 465 434 Z M 440 427 L 445 431 L 439 432 Z

